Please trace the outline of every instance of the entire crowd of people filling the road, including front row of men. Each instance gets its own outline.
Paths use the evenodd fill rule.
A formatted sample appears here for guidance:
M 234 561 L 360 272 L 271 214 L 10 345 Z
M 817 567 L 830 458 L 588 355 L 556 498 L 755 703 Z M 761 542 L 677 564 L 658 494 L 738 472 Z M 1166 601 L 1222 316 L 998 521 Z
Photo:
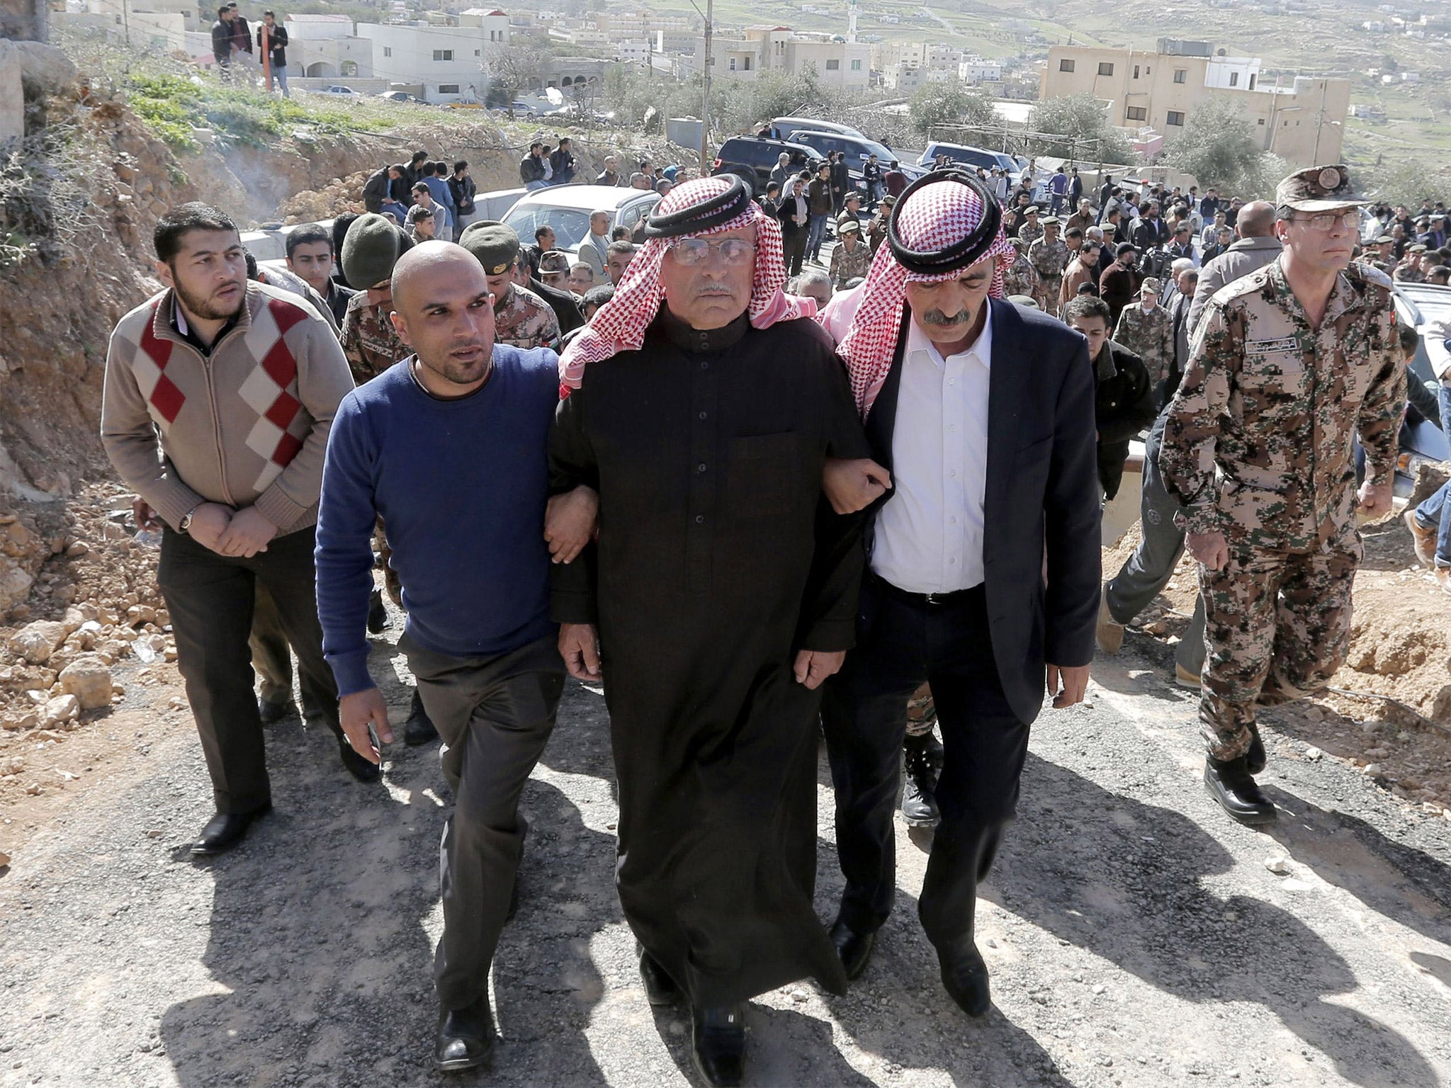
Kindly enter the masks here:
M 163 529 L 216 805 L 192 850 L 270 809 L 263 724 L 293 712 L 292 657 L 303 714 L 379 779 L 386 593 L 416 683 L 398 733 L 440 744 L 454 798 L 440 1069 L 488 1060 L 499 934 L 548 908 L 518 902 L 518 801 L 566 675 L 609 709 L 646 997 L 688 1004 L 712 1085 L 741 1082 L 752 997 L 866 970 L 898 789 L 936 828 L 917 914 L 943 989 L 988 1010 L 977 888 L 1029 728 L 1045 692 L 1084 698 L 1096 643 L 1119 650 L 1184 550 L 1203 592 L 1177 677 L 1201 689 L 1206 788 L 1275 818 L 1255 708 L 1344 660 L 1355 512 L 1390 509 L 1418 342 L 1360 254 L 1348 170 L 1249 202 L 1113 181 L 1094 200 L 1058 171 L 1043 215 L 987 171 L 907 184 L 887 164 L 859 193 L 834 165 L 753 199 L 607 160 L 599 184 L 662 197 L 634 229 L 596 212 L 575 254 L 480 219 L 469 164 L 427 151 L 374 173 L 364 213 L 292 231 L 286 268 L 250 261 L 219 209 L 157 225 L 164 290 L 112 337 L 102 437 Z M 560 139 L 519 173 L 582 164 Z M 1428 345 L 1447 425 L 1451 354 Z M 1103 583 L 1101 509 L 1145 429 L 1143 538 Z M 1407 527 L 1451 592 L 1447 489 Z M 846 878 L 830 926 L 818 722 Z

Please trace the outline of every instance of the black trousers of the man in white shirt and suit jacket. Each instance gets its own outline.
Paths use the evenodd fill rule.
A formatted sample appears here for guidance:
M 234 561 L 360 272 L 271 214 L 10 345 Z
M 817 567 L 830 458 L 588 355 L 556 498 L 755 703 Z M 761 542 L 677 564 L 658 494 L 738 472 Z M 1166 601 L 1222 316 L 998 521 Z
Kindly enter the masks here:
M 972 937 L 978 881 L 1017 805 L 1027 724 L 1003 693 L 982 586 L 929 605 L 868 576 L 856 648 L 821 704 L 846 876 L 840 918 L 859 933 L 879 928 L 897 895 L 892 817 L 907 698 L 923 680 L 937 704 L 945 763 L 942 824 L 917 912 L 927 939 L 945 949 Z

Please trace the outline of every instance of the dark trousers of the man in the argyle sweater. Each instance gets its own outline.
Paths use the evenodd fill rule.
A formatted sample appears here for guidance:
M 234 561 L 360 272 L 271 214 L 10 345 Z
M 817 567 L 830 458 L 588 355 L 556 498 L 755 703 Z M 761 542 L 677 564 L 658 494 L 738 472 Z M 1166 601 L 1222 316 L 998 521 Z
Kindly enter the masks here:
M 271 595 L 303 686 L 319 696 L 338 737 L 338 688 L 322 659 L 312 566 L 313 529 L 277 537 L 251 559 L 219 556 L 165 529 L 157 583 L 171 614 L 177 667 L 202 734 L 218 812 L 251 812 L 271 801 L 263 724 L 252 693 L 248 635 L 257 586 Z

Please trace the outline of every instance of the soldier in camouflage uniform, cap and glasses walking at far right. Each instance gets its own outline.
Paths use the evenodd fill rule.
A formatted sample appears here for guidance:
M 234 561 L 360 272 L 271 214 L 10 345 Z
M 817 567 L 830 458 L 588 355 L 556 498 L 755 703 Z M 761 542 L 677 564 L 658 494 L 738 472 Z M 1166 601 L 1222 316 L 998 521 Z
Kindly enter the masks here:
M 1275 817 L 1254 780 L 1255 702 L 1335 675 L 1361 560 L 1357 499 L 1370 516 L 1390 509 L 1405 361 L 1390 280 L 1351 263 L 1361 203 L 1344 165 L 1280 183 L 1284 251 L 1214 294 L 1167 409 L 1159 469 L 1185 506 L 1206 606 L 1204 785 L 1246 824 Z

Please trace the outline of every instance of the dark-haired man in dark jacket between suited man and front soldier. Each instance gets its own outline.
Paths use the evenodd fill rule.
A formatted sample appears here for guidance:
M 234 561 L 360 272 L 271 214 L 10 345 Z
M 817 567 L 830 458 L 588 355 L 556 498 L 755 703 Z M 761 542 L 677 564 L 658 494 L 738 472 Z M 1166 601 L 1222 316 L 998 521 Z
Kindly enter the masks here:
M 1154 386 L 1143 361 L 1109 339 L 1109 303 L 1080 294 L 1064 308 L 1064 321 L 1088 338 L 1094 370 L 1094 425 L 1098 431 L 1098 486 L 1104 499 L 1119 493 L 1129 440 L 1154 422 Z

